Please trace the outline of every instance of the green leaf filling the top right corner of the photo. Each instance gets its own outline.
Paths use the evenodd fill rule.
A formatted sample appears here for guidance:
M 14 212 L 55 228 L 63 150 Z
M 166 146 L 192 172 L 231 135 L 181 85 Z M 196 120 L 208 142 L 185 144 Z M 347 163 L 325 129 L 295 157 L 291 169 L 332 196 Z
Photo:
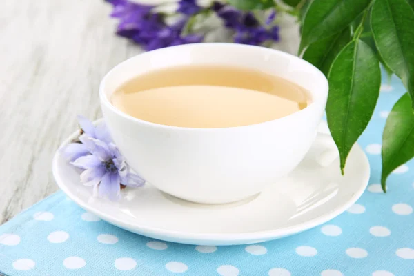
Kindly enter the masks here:
M 371 13 L 375 45 L 414 99 L 414 11 L 406 0 L 376 0 Z

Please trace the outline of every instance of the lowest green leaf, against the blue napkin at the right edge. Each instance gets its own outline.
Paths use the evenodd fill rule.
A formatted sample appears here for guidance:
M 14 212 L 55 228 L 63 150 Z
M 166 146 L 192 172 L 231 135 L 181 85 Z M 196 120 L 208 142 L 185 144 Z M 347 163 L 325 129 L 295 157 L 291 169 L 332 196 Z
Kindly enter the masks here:
M 391 110 L 382 134 L 381 186 L 386 192 L 386 179 L 398 166 L 414 157 L 414 113 L 411 99 L 404 94 Z

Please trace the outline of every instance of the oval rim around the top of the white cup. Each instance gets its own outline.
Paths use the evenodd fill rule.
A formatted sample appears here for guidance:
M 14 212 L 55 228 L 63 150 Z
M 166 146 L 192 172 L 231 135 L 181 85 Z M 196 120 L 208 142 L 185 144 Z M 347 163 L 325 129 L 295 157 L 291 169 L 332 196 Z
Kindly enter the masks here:
M 273 119 L 270 121 L 264 121 L 264 122 L 260 122 L 257 124 L 249 124 L 246 126 L 229 126 L 229 127 L 224 127 L 224 128 L 190 128 L 190 127 L 184 127 L 184 126 L 168 126 L 168 125 L 164 125 L 164 124 L 157 124 L 157 123 L 153 123 L 150 121 L 145 121 L 136 117 L 132 117 L 131 115 L 126 114 L 125 112 L 122 112 L 121 110 L 119 110 L 118 108 L 116 108 L 115 106 L 112 105 L 112 103 L 110 103 L 110 100 L 108 98 L 108 96 L 106 95 L 105 92 L 105 85 L 106 85 L 106 81 L 108 79 L 108 77 L 110 77 L 110 75 L 112 75 L 114 72 L 116 72 L 117 70 L 119 70 L 119 68 L 121 68 L 122 66 L 124 66 L 125 63 L 130 62 L 132 59 L 139 59 L 140 57 L 144 56 L 144 55 L 155 55 L 155 53 L 157 52 L 162 52 L 165 50 L 170 50 L 172 48 L 204 48 L 204 47 L 209 47 L 209 46 L 215 46 L 215 47 L 230 47 L 230 48 L 255 48 L 256 50 L 261 50 L 264 52 L 269 52 L 269 53 L 273 53 L 277 55 L 282 55 L 285 57 L 288 57 L 289 59 L 295 59 L 299 62 L 305 63 L 307 66 L 310 66 L 311 68 L 313 68 L 313 70 L 315 70 L 315 72 L 317 73 L 317 75 L 319 75 L 319 77 L 321 77 L 322 79 L 322 83 L 323 86 L 321 87 L 321 92 L 324 92 L 324 95 L 320 96 L 320 97 L 313 97 L 311 104 L 309 104 L 308 106 L 306 106 L 306 108 L 303 108 L 302 110 L 299 110 L 297 112 L 294 112 L 292 114 L 286 115 L 284 117 L 281 118 L 277 118 L 277 119 Z M 115 66 L 114 68 L 112 68 L 111 70 L 109 70 L 106 75 L 103 76 L 103 79 L 101 80 L 101 83 L 99 85 L 99 98 L 101 100 L 101 105 L 105 105 L 106 107 L 108 107 L 112 112 L 114 112 L 117 116 L 120 116 L 128 121 L 132 121 L 138 124 L 144 124 L 146 126 L 152 126 L 152 127 L 157 127 L 157 128 L 164 128 L 164 129 L 175 129 L 175 130 L 199 130 L 199 131 L 211 131 L 211 130 L 229 130 L 229 129 L 239 129 L 239 128 L 251 128 L 254 126 L 259 126 L 259 125 L 264 125 L 264 124 L 270 124 L 272 122 L 275 121 L 285 121 L 287 119 L 291 119 L 293 117 L 298 117 L 298 116 L 302 116 L 302 114 L 309 112 L 310 110 L 315 109 L 315 107 L 317 106 L 317 104 L 319 103 L 323 103 L 323 101 L 326 101 L 326 98 L 328 97 L 328 79 L 326 79 L 324 73 L 321 72 L 321 70 L 319 70 L 316 66 L 314 66 L 312 63 L 301 59 L 300 57 L 297 57 L 295 55 L 289 54 L 287 52 L 282 52 L 281 50 L 276 50 L 273 48 L 266 48 L 266 47 L 262 47 L 262 46 L 253 46 L 253 45 L 245 45 L 245 44 L 237 44 L 237 43 L 191 43 L 191 44 L 184 44 L 184 45 L 177 45 L 177 46 L 170 46 L 170 47 L 166 47 L 166 48 L 160 48 L 157 50 L 152 50 L 152 51 L 148 51 L 148 52 L 142 52 L 138 55 L 135 55 L 134 57 L 130 57 L 129 59 L 126 59 L 125 61 L 122 61 L 121 63 L 118 63 L 117 66 Z M 325 105 L 324 105 L 325 106 Z

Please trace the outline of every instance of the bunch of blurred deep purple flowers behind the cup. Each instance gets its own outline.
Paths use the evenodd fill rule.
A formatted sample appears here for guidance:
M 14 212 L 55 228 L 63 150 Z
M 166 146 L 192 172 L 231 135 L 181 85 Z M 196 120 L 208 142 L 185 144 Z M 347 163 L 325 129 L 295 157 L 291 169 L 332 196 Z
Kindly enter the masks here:
M 168 26 L 164 20 L 166 15 L 154 12 L 155 6 L 132 3 L 128 0 L 106 0 L 112 3 L 114 9 L 111 17 L 119 19 L 117 34 L 131 39 L 145 50 L 155 50 L 168 46 L 186 43 L 199 43 L 204 40 L 202 34 L 183 34 L 188 19 L 201 12 L 196 0 L 180 0 L 177 13 L 184 16 L 177 23 Z M 265 41 L 279 41 L 279 28 L 270 26 L 275 19 L 272 10 L 262 26 L 251 12 L 243 12 L 233 6 L 213 2 L 210 7 L 220 17 L 226 28 L 235 31 L 235 43 L 261 45 Z

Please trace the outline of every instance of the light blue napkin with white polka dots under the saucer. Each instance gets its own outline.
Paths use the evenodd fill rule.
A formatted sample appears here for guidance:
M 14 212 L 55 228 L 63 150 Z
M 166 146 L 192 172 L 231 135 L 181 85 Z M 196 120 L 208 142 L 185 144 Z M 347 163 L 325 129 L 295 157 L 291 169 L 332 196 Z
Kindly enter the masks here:
M 121 230 L 86 213 L 59 192 L 0 226 L 0 275 L 413 276 L 414 161 L 380 187 L 386 117 L 405 92 L 382 85 L 359 144 L 370 184 L 347 212 L 299 235 L 248 246 L 190 246 Z

